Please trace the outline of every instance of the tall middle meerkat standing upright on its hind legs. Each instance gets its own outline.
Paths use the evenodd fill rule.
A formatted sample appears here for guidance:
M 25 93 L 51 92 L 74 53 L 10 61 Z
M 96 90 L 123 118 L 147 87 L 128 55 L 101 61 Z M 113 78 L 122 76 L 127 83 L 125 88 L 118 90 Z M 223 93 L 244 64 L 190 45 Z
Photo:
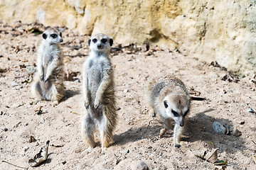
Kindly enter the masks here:
M 117 125 L 116 102 L 114 98 L 114 77 L 110 62 L 112 38 L 105 34 L 93 35 L 89 40 L 90 56 L 83 64 L 82 89 L 86 112 L 82 115 L 82 137 L 90 145 L 85 152 L 95 147 L 94 131 L 100 132 L 101 154 L 113 142 Z

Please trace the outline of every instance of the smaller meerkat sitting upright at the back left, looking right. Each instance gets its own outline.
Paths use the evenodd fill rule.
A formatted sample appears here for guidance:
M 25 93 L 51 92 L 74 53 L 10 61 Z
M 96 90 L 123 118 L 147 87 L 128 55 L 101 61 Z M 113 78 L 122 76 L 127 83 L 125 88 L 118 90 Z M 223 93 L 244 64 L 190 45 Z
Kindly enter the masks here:
M 57 106 L 63 98 L 65 89 L 60 42 L 63 42 L 61 32 L 56 28 L 47 27 L 38 47 L 37 73 L 32 85 L 36 101 L 53 101 L 53 106 Z

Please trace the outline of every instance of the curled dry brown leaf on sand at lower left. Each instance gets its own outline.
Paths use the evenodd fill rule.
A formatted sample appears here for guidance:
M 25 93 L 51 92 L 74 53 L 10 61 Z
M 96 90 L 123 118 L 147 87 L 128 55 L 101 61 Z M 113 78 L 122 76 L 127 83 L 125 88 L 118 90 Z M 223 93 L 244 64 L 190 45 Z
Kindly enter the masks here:
M 28 164 L 31 164 L 32 167 L 35 167 L 35 166 L 38 166 L 39 164 L 41 164 L 42 162 L 46 161 L 47 155 L 48 155 L 49 143 L 50 143 L 50 141 L 48 140 L 46 142 L 46 146 L 41 147 L 40 152 L 38 154 L 36 154 L 36 156 L 33 157 L 33 159 L 28 160 Z

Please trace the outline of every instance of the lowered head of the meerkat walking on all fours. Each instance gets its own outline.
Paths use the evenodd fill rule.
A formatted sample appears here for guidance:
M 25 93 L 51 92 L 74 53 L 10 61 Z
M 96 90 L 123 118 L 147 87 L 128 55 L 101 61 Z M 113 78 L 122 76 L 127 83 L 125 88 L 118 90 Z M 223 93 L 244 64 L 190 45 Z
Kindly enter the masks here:
M 184 118 L 190 108 L 189 96 L 183 94 L 169 94 L 164 98 L 162 105 L 165 108 L 166 115 L 173 118 L 178 125 L 184 125 Z

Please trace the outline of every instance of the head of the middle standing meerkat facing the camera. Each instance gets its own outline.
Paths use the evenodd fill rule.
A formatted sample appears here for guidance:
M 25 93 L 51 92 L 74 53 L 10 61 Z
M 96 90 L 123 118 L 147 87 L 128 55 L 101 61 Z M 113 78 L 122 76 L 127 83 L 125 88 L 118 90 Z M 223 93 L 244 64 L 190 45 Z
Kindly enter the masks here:
M 109 36 L 100 33 L 92 35 L 92 37 L 88 40 L 88 44 L 90 50 L 94 52 L 104 52 L 105 50 L 110 51 L 110 47 L 113 45 L 113 40 Z

